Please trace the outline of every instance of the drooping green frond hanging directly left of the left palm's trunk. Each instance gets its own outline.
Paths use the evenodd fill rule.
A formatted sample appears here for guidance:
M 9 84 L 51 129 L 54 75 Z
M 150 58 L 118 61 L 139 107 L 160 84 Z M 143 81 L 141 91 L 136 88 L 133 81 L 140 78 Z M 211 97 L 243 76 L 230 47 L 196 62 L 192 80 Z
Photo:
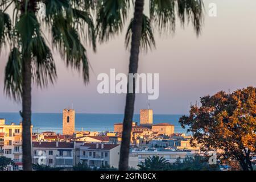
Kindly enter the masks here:
M 18 48 L 14 47 L 9 55 L 5 67 L 5 86 L 7 96 L 19 101 L 22 93 L 22 55 Z

